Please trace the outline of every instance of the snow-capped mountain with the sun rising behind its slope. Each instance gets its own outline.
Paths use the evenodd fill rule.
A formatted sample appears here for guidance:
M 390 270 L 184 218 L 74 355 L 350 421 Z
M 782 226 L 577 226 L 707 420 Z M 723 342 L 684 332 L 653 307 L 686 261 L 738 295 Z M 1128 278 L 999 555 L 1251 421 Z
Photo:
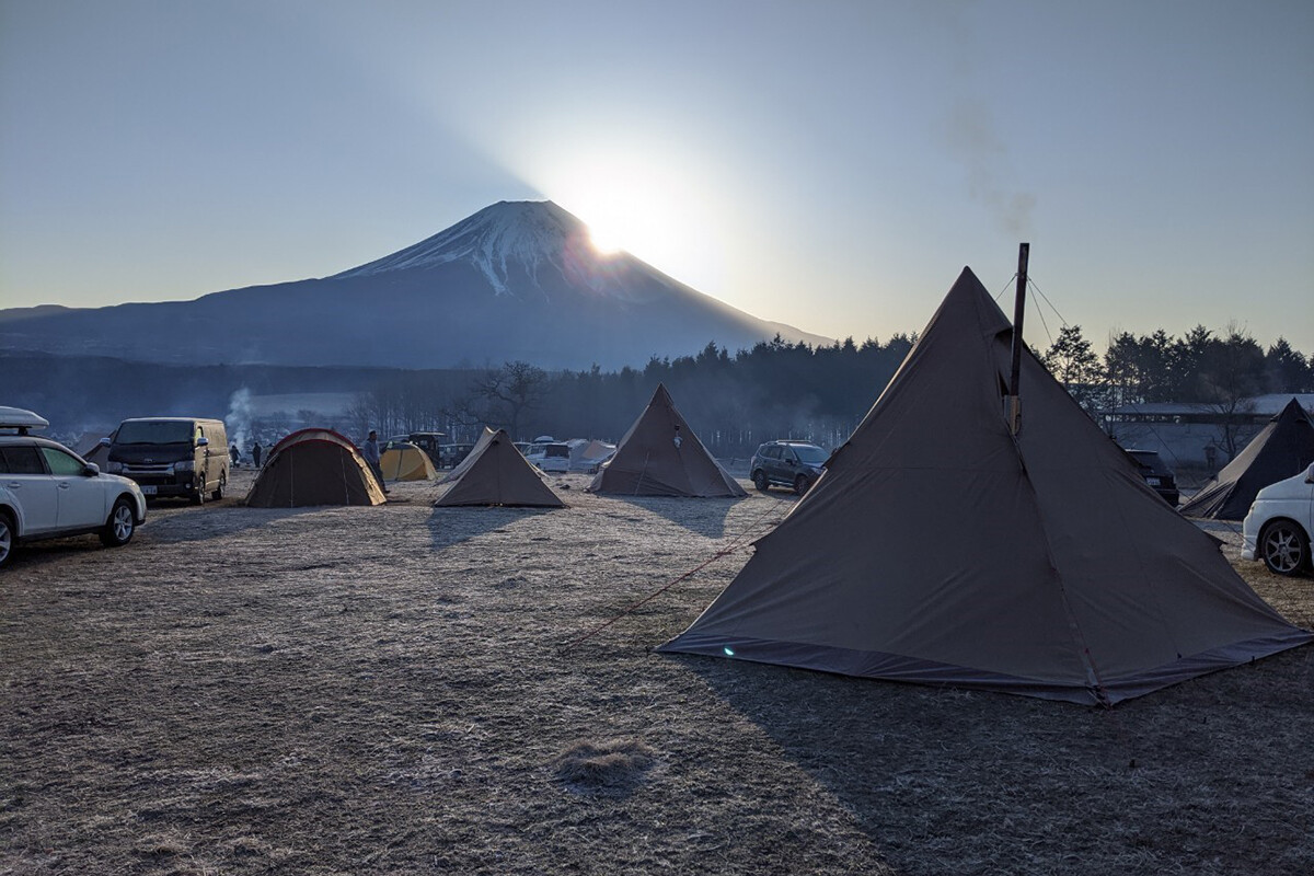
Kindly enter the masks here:
M 599 255 L 551 201 L 502 201 L 411 247 L 319 280 L 194 301 L 0 310 L 12 352 L 168 364 L 455 368 L 523 360 L 549 369 L 643 366 L 708 341 L 779 334 L 628 255 Z

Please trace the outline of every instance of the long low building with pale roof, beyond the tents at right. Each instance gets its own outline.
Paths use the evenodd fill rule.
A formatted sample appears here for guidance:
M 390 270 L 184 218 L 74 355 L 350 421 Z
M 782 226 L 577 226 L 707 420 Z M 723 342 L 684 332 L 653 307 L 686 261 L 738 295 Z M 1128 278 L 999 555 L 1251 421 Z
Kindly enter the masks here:
M 1189 402 L 1123 405 L 1104 415 L 1105 431 L 1125 448 L 1158 450 L 1175 468 L 1217 470 L 1231 462 L 1292 398 L 1314 416 L 1314 393 L 1275 393 L 1234 410 Z

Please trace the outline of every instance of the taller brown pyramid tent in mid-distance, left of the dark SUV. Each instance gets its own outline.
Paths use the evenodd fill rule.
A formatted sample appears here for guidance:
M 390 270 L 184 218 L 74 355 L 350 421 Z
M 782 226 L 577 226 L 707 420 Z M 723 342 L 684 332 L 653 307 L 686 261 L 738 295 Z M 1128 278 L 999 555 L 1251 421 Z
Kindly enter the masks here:
M 648 407 L 620 439 L 589 490 L 664 496 L 748 495 L 689 428 L 665 385 L 657 386 Z

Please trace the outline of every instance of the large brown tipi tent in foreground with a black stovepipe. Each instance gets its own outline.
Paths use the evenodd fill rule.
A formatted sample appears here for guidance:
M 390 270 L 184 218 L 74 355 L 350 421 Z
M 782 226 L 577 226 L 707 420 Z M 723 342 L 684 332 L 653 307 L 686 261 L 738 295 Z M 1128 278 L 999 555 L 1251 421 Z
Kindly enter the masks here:
M 1024 348 L 963 271 L 816 486 L 662 651 L 1113 704 L 1314 638 Z

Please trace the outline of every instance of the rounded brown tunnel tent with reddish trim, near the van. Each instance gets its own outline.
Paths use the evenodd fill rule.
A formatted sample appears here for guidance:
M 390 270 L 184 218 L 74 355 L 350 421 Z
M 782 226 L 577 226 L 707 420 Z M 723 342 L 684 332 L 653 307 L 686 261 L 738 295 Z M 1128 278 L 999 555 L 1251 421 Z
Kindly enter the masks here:
M 246 503 L 259 508 L 382 504 L 382 486 L 355 445 L 332 429 L 301 429 L 273 445 Z

